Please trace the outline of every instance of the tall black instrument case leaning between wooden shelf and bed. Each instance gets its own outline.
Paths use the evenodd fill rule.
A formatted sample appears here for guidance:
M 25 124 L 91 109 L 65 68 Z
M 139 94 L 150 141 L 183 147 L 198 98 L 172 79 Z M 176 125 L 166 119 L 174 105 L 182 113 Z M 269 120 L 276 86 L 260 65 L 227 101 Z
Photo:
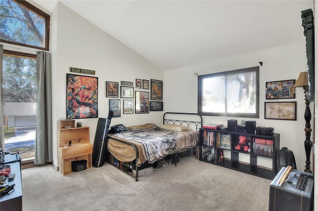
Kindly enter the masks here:
M 92 165 L 94 167 L 100 167 L 105 162 L 107 151 L 108 128 L 112 117 L 113 111 L 109 111 L 107 119 L 98 119 L 92 154 Z

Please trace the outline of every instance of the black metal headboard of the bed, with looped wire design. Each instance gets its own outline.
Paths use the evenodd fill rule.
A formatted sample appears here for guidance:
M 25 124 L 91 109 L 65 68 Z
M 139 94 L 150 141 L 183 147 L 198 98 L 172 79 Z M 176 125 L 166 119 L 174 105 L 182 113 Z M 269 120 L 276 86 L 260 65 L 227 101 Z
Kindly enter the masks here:
M 188 120 L 178 119 L 177 116 L 179 115 L 180 115 L 180 118 L 189 118 L 189 119 Z M 171 116 L 171 118 L 169 116 Z M 165 112 L 163 114 L 163 124 L 188 125 L 189 127 L 195 128 L 196 130 L 198 130 L 202 127 L 202 116 L 197 113 Z

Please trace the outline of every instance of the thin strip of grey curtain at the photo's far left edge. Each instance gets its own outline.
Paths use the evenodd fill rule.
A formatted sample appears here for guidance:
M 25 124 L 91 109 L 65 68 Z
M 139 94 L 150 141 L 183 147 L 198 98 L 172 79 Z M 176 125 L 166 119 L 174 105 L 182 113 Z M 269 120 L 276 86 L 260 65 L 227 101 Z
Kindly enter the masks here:
M 0 147 L 4 150 L 3 45 L 0 44 Z

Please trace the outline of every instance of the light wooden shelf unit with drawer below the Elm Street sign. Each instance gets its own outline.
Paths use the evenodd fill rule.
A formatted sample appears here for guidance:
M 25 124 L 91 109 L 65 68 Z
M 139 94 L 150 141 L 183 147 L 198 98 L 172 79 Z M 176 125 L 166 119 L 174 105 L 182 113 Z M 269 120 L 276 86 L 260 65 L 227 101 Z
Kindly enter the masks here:
M 70 126 L 70 128 L 64 128 Z M 87 160 L 86 168 L 91 168 L 93 145 L 89 143 L 89 127 L 75 127 L 75 120 L 59 120 L 58 156 L 60 171 L 65 176 L 72 173 L 72 161 Z M 72 142 L 69 146 L 69 141 Z

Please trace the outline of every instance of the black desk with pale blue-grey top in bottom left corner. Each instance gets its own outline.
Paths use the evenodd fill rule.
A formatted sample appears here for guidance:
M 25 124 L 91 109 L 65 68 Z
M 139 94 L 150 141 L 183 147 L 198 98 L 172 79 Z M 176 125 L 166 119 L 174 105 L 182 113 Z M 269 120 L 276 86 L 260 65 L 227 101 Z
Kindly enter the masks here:
M 21 180 L 21 158 L 19 154 L 5 155 L 4 162 L 1 164 L 10 165 L 11 172 L 15 172 L 14 179 L 6 184 L 14 185 L 14 191 L 10 194 L 4 194 L 0 197 L 1 211 L 22 211 L 22 180 Z

